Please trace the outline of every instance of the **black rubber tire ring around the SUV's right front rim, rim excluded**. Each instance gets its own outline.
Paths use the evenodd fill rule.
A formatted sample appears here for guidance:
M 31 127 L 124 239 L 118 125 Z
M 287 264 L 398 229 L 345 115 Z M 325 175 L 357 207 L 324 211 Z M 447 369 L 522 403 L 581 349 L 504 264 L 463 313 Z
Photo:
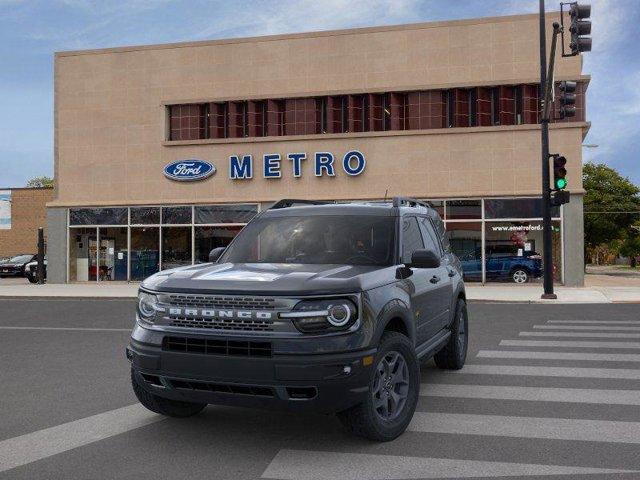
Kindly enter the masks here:
M 375 411 L 373 406 L 373 396 L 371 389 L 373 387 L 373 380 L 375 378 L 376 366 L 380 360 L 390 351 L 396 351 L 405 359 L 407 367 L 409 369 L 409 394 L 404 406 L 403 411 L 397 418 L 390 421 L 381 419 Z M 399 333 L 385 334 L 382 337 L 380 348 L 376 354 L 373 362 L 373 368 L 371 369 L 371 376 L 369 378 L 369 391 L 367 393 L 367 400 L 365 402 L 368 416 L 373 424 L 374 429 L 379 434 L 379 437 L 385 440 L 393 440 L 404 432 L 413 418 L 416 405 L 418 404 L 418 398 L 420 396 L 420 364 L 415 354 L 413 345 L 407 337 Z

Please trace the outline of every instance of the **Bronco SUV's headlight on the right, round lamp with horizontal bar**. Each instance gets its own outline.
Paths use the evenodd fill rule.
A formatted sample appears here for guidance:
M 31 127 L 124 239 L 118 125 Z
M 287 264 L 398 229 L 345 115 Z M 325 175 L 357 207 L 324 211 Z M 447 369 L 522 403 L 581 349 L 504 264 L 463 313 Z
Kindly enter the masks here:
M 346 298 L 303 300 L 291 312 L 280 314 L 289 318 L 303 333 L 322 333 L 347 330 L 358 319 L 358 308 Z

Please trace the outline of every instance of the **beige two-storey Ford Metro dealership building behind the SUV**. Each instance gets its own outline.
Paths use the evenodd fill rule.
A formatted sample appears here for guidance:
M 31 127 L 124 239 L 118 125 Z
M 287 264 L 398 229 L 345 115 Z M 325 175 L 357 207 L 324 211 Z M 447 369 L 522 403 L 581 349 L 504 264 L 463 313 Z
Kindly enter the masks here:
M 49 281 L 206 262 L 282 198 L 394 195 L 433 203 L 468 280 L 513 281 L 543 253 L 538 41 L 537 15 L 518 15 L 57 53 Z M 550 125 L 571 191 L 553 212 L 554 270 L 571 286 L 581 67 L 558 55 L 577 114 Z

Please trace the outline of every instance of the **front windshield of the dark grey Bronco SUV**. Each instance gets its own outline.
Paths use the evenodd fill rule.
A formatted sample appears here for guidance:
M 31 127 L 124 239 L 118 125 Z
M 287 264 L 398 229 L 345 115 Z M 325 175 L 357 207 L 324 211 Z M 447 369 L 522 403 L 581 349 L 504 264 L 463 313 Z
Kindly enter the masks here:
M 391 265 L 394 217 L 309 216 L 256 219 L 220 262 Z

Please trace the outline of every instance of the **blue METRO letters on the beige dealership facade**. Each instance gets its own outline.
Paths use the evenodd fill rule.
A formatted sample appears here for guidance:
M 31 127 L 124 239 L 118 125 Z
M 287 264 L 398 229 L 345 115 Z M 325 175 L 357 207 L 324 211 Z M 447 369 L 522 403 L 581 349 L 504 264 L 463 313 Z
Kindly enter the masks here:
M 291 171 L 295 178 L 302 176 L 302 164 L 308 160 L 306 153 L 288 153 L 284 158 L 290 162 Z M 315 152 L 311 157 L 313 170 L 316 177 L 335 177 L 336 168 L 342 167 L 344 173 L 351 177 L 360 175 L 367 164 L 364 154 L 358 150 L 350 150 L 341 159 L 338 159 L 339 167 L 336 167 L 336 158 L 331 152 Z M 283 156 L 279 153 L 266 153 L 262 156 L 262 177 L 282 178 Z M 247 180 L 253 178 L 253 156 L 231 155 L 229 157 L 229 178 L 231 180 Z

